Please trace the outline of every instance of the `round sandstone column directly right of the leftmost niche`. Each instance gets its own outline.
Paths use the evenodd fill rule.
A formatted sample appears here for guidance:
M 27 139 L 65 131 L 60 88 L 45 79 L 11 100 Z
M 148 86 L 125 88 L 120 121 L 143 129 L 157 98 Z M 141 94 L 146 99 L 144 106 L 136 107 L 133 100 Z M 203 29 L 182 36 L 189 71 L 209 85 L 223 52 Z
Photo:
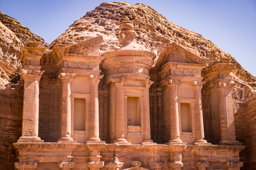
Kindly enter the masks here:
M 89 100 L 89 138 L 86 143 L 105 143 L 100 140 L 99 132 L 99 93 L 98 84 L 103 75 L 90 75 L 90 100 Z

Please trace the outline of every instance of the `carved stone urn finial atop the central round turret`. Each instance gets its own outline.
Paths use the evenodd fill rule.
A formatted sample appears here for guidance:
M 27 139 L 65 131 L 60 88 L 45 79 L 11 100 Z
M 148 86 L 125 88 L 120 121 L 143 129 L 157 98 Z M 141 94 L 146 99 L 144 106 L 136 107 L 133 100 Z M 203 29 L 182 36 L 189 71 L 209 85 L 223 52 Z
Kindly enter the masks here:
M 119 29 L 121 33 L 117 36 L 117 39 L 123 46 L 119 50 L 124 49 L 134 49 L 130 44 L 136 37 L 134 35 L 134 31 L 132 31 L 134 28 L 133 22 L 129 20 L 127 16 L 121 19 L 121 22 L 119 24 Z

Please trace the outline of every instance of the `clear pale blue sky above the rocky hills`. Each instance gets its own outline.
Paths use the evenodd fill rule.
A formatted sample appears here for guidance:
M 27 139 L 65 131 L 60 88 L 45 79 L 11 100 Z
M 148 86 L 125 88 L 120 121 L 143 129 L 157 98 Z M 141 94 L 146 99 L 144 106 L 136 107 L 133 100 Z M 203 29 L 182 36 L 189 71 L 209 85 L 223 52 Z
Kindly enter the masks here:
M 87 11 L 108 0 L 0 0 L 0 11 L 51 43 Z M 201 34 L 256 76 L 256 0 L 126 0 L 142 3 Z

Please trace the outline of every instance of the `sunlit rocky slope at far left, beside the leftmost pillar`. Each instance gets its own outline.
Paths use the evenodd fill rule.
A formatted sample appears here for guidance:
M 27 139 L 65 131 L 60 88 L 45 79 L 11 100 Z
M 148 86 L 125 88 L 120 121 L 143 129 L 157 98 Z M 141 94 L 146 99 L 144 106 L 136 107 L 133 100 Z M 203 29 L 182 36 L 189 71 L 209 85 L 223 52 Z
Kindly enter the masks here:
M 28 41 L 39 41 L 42 48 L 49 45 L 16 19 L 0 11 L 0 89 L 5 88 L 9 76 L 19 67 L 20 48 Z

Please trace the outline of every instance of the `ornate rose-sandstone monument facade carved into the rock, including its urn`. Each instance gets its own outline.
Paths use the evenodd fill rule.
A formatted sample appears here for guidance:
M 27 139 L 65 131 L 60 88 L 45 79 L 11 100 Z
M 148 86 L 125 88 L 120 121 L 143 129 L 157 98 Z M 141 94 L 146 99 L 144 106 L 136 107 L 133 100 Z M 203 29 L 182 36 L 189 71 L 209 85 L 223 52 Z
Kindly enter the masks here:
M 39 42 L 21 48 L 14 168 L 239 170 L 230 59 L 209 62 L 169 43 L 153 67 L 156 54 L 131 45 L 132 21 L 119 29 L 121 48 L 102 55 L 102 36 L 50 52 Z

